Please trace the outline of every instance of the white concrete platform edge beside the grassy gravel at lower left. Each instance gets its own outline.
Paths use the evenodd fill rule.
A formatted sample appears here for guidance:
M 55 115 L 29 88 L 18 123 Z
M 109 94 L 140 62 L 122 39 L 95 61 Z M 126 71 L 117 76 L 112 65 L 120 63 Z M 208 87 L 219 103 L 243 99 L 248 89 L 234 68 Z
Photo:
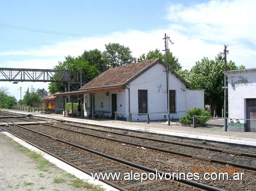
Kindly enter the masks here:
M 69 166 L 68 164 L 62 162 L 61 160 L 58 160 L 57 158 L 41 151 L 40 149 L 35 148 L 34 146 L 26 143 L 25 141 L 17 138 L 16 136 L 10 134 L 9 132 L 6 131 L 2 131 L 6 136 L 10 137 L 11 139 L 13 139 L 14 141 L 16 141 L 17 143 L 21 144 L 22 146 L 25 146 L 26 148 L 35 151 L 37 153 L 40 153 L 45 159 L 47 159 L 50 163 L 55 164 L 58 168 L 73 174 L 74 176 L 76 176 L 77 178 L 81 179 L 81 180 L 87 180 L 89 183 L 92 183 L 94 185 L 101 185 L 103 188 L 105 188 L 106 190 L 110 191 L 118 191 L 116 188 L 113 188 L 109 185 L 107 185 L 104 182 L 101 182 L 99 180 L 93 180 L 93 178 L 91 176 L 89 176 L 88 174 L 85 174 L 81 171 L 79 171 L 78 169 Z

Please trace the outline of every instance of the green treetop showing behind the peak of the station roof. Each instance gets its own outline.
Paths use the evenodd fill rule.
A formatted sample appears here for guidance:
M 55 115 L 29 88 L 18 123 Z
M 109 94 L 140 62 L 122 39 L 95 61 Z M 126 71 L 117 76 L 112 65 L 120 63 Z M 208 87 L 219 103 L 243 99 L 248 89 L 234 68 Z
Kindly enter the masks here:
M 181 72 L 181 65 L 178 62 L 178 58 L 176 58 L 175 56 L 173 56 L 173 53 L 168 51 L 168 61 L 169 61 L 169 68 L 171 68 L 172 70 L 174 70 L 176 73 L 179 74 L 179 72 Z M 153 60 L 153 59 L 158 59 L 160 57 L 160 59 L 165 63 L 165 54 L 162 54 L 161 51 L 159 49 L 155 49 L 154 51 L 150 50 L 147 55 L 142 54 L 140 56 L 140 60 L 141 61 L 146 61 L 146 60 Z

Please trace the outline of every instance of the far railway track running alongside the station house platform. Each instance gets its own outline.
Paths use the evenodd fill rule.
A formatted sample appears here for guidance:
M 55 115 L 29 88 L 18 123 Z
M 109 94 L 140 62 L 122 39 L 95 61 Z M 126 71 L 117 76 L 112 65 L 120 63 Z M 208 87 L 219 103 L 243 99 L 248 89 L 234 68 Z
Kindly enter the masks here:
M 120 134 L 120 133 L 107 132 L 107 131 L 102 131 L 102 130 L 100 130 L 100 132 L 103 132 L 105 134 L 97 135 L 93 132 L 91 132 L 91 133 L 82 132 L 82 131 L 71 130 L 71 129 L 54 126 L 54 125 L 48 125 L 48 124 L 41 124 L 41 125 L 53 127 L 53 128 L 57 128 L 57 129 L 65 130 L 65 131 L 75 132 L 75 133 L 82 134 L 82 135 L 92 136 L 92 137 L 100 138 L 100 139 L 104 139 L 104 140 L 117 141 L 117 142 L 123 143 L 123 144 L 130 144 L 130 145 L 135 145 L 135 146 L 139 146 L 142 148 L 158 150 L 160 152 L 177 154 L 177 155 L 189 157 L 189 158 L 197 158 L 197 159 L 207 160 L 207 161 L 211 161 L 213 163 L 220 163 L 220 164 L 225 164 L 225 165 L 228 164 L 230 166 L 256 171 L 256 163 L 255 163 L 256 155 L 255 154 L 234 152 L 234 151 L 230 151 L 230 150 L 216 149 L 216 148 L 210 148 L 210 147 L 206 147 L 206 146 L 176 143 L 176 142 L 172 142 L 172 141 L 151 139 L 151 138 L 145 138 L 145 137 L 141 137 L 141 136 L 124 135 L 124 134 Z M 61 124 L 61 126 L 63 126 L 63 125 Z M 72 128 L 72 126 L 70 126 L 70 125 L 67 127 Z M 79 126 L 73 126 L 73 127 L 81 128 Z M 92 130 L 92 131 L 98 131 L 98 130 Z M 110 133 L 118 135 L 119 137 L 110 138 L 111 137 L 111 136 L 109 136 Z M 127 136 L 128 136 L 128 138 L 127 138 Z M 136 138 L 138 140 L 135 141 L 134 139 L 131 139 L 131 138 Z M 142 143 L 141 143 L 141 139 L 144 140 Z M 161 144 L 159 145 L 159 143 L 161 143 Z M 176 148 L 174 148 L 174 145 L 176 146 Z M 191 149 L 189 150 L 186 148 L 193 148 L 193 150 L 191 150 Z M 176 150 L 178 150 L 179 152 Z M 202 151 L 203 151 L 204 155 L 207 155 L 207 157 L 200 156 L 200 155 L 202 155 Z M 188 154 L 188 153 L 193 153 L 193 154 Z M 240 158 L 238 159 L 238 157 L 240 157 Z M 218 158 L 218 159 L 215 159 L 215 158 Z M 221 158 L 221 160 L 219 158 Z M 231 159 L 231 158 L 233 158 L 233 159 Z M 235 160 L 235 161 L 237 161 L 237 163 L 230 162 L 230 160 Z M 245 161 L 248 161 L 247 165 L 244 165 Z

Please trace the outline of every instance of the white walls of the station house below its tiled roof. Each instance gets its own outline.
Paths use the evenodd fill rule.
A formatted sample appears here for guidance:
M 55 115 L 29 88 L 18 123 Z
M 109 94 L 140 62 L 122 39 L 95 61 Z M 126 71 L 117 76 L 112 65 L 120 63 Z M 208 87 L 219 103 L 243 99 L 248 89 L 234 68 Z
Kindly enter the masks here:
M 150 120 L 167 120 L 167 89 L 166 89 L 166 72 L 165 66 L 156 64 L 133 80 L 127 85 L 130 88 L 130 112 L 136 113 L 132 115 L 132 121 L 146 121 L 146 115 L 138 115 L 138 90 L 147 90 L 148 113 L 162 114 L 150 115 Z M 185 91 L 182 91 L 183 88 Z M 176 91 L 176 113 L 171 113 L 171 119 L 177 119 L 185 115 L 187 109 L 193 107 L 204 108 L 204 93 L 203 90 L 186 89 L 186 85 L 177 78 L 174 74 L 169 74 L 169 90 Z M 112 116 L 111 94 L 117 94 L 117 111 L 118 116 L 127 117 L 129 120 L 129 90 L 111 91 L 109 96 L 106 92 L 95 94 L 95 108 L 97 111 L 108 111 L 108 116 Z M 90 95 L 85 94 L 90 107 Z M 103 102 L 103 108 L 101 108 Z M 122 105 L 122 106 L 121 106 Z M 123 112 L 123 113 L 122 113 Z M 165 114 L 165 115 L 164 115 Z M 106 114 L 105 114 L 106 115 Z M 87 114 L 85 113 L 85 116 Z

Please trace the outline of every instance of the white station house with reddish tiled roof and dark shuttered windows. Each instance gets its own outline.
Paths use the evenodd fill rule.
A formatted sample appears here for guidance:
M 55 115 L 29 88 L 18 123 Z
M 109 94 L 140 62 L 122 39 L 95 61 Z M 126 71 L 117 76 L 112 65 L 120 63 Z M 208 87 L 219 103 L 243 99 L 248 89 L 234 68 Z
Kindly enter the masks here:
M 80 88 L 84 94 L 84 108 L 93 108 L 106 118 L 129 121 L 167 119 L 167 77 L 160 59 L 128 64 L 106 70 Z M 190 84 L 173 70 L 169 70 L 170 118 L 185 115 L 193 107 L 204 108 L 204 90 L 189 89 Z M 94 104 L 92 104 L 94 102 Z M 88 111 L 88 110 L 87 110 Z M 153 115 L 162 114 L 162 115 Z M 165 115 L 164 115 L 165 114 Z M 84 116 L 88 116 L 86 112 Z

